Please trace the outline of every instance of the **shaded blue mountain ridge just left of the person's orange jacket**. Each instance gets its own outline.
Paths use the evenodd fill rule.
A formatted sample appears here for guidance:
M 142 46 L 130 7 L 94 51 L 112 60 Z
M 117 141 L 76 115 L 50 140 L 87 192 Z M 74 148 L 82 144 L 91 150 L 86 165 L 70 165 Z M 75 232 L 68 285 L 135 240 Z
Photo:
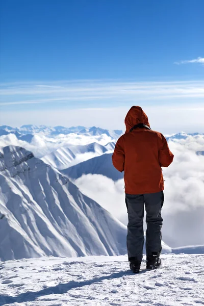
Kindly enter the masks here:
M 109 177 L 113 181 L 123 178 L 123 173 L 117 171 L 112 164 L 112 153 L 103 154 L 79 163 L 67 169 L 61 170 L 72 180 L 77 180 L 83 174 L 101 174 Z

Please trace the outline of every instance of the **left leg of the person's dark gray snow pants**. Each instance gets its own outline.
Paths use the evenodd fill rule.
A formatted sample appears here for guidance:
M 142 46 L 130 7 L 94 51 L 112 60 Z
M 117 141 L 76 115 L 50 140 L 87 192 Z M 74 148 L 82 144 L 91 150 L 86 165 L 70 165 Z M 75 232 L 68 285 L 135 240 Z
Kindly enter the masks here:
M 125 194 L 128 212 L 127 224 L 127 253 L 129 261 L 137 258 L 142 261 L 144 245 L 144 197 L 143 194 Z

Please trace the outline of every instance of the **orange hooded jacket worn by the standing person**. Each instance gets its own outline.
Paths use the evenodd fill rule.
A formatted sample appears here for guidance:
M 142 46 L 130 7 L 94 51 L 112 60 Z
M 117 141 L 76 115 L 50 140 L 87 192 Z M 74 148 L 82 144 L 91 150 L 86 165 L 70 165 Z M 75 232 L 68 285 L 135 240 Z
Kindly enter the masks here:
M 115 145 L 112 161 L 118 171 L 124 171 L 125 193 L 162 191 L 164 180 L 161 167 L 168 167 L 173 161 L 165 137 L 150 129 L 148 117 L 139 106 L 133 106 L 127 112 L 124 122 L 126 131 Z M 132 129 L 139 123 L 146 127 Z

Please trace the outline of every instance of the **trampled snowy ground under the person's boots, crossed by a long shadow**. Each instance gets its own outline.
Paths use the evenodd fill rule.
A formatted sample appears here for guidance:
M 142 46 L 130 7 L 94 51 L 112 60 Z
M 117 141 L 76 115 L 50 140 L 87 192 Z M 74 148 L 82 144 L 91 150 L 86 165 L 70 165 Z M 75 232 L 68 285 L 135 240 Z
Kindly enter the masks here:
M 0 263 L 0 306 L 204 304 L 204 254 L 165 254 L 139 274 L 126 256 L 39 258 Z M 145 259 L 145 258 L 144 258 Z

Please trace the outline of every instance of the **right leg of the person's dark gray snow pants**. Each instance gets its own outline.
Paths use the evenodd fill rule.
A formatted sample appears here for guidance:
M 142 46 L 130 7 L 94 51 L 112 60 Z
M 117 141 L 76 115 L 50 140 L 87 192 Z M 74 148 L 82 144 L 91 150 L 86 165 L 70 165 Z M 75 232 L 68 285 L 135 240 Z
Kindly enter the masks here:
M 163 191 L 144 194 L 146 209 L 146 255 L 153 254 L 160 256 L 162 250 L 162 216 L 161 209 L 164 203 Z

